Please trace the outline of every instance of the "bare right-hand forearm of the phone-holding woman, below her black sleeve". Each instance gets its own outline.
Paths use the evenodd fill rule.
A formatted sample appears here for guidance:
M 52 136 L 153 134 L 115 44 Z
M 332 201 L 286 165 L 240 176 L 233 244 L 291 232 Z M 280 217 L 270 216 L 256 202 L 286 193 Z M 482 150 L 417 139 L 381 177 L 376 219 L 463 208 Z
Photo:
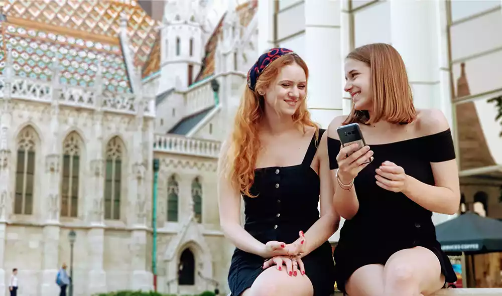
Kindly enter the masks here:
M 406 178 L 406 188 L 402 192 L 409 199 L 435 213 L 453 215 L 457 212 L 459 197 L 451 189 L 428 185 L 408 175 Z

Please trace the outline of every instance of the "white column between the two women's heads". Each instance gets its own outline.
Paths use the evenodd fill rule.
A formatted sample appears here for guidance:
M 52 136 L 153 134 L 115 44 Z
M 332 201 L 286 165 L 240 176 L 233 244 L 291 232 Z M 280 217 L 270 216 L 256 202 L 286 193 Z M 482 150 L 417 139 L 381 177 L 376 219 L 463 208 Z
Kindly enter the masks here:
M 339 1 L 305 1 L 305 53 L 309 110 L 327 128 L 342 113 Z

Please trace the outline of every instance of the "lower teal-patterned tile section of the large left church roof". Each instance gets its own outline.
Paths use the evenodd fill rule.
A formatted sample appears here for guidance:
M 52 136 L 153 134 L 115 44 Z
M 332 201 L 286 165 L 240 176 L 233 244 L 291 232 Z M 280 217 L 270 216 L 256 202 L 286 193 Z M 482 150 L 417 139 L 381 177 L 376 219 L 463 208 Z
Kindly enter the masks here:
M 0 69 L 5 67 L 5 50 L 11 49 L 13 68 L 20 77 L 50 81 L 51 66 L 57 59 L 62 84 L 92 87 L 100 64 L 104 91 L 131 92 L 118 42 L 84 40 L 70 34 L 55 34 L 52 28 L 34 29 L 15 24 L 15 20 L 11 22 L 2 24 L 4 50 L 0 55 Z

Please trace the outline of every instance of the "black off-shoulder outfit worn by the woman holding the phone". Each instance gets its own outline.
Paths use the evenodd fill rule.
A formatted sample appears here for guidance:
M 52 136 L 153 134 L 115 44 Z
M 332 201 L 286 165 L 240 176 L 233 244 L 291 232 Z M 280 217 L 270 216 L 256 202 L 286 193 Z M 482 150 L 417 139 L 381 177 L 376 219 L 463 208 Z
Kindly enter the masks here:
M 368 145 L 374 153 L 374 160 L 354 180 L 359 210 L 352 219 L 344 222 L 333 253 L 338 289 L 345 292 L 345 282 L 359 267 L 385 265 L 395 252 L 415 246 L 431 250 L 441 263 L 446 282 L 456 281 L 448 256 L 436 239 L 432 212 L 403 193 L 379 187 L 374 178 L 375 169 L 390 161 L 403 167 L 407 175 L 434 185 L 430 163 L 455 159 L 450 129 L 398 142 Z M 328 137 L 331 170 L 338 168 L 336 156 L 340 146 L 339 140 Z

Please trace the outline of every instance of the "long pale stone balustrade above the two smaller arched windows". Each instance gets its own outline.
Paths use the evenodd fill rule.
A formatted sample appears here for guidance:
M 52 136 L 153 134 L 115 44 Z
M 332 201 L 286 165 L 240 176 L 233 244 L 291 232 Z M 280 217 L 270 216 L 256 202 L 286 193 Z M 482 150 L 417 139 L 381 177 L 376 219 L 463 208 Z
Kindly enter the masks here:
M 218 141 L 186 138 L 177 135 L 156 134 L 154 140 L 155 152 L 218 158 L 221 143 Z

